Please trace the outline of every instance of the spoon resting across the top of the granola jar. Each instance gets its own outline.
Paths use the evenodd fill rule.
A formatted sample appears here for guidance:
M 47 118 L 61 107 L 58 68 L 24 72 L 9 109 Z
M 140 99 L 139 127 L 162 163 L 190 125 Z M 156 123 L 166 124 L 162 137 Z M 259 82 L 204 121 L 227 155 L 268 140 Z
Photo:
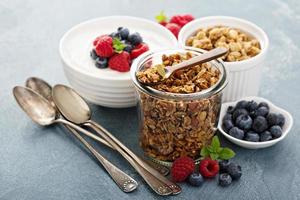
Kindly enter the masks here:
M 137 78 L 137 80 L 144 85 L 149 85 L 149 86 L 157 85 L 157 84 L 160 84 L 160 83 L 166 81 L 177 70 L 185 69 L 188 67 L 192 67 L 195 65 L 199 65 L 199 64 L 214 60 L 216 58 L 224 56 L 227 53 L 227 51 L 228 51 L 228 49 L 226 49 L 224 47 L 218 47 L 218 48 L 212 49 L 210 51 L 207 51 L 203 54 L 197 55 L 197 56 L 195 56 L 187 61 L 181 62 L 179 64 L 163 67 L 163 68 L 161 68 L 161 70 L 163 70 L 163 71 L 160 72 L 160 75 L 162 76 L 162 78 L 157 80 L 156 82 L 152 82 L 152 83 L 143 82 L 143 81 L 139 80 L 139 78 Z

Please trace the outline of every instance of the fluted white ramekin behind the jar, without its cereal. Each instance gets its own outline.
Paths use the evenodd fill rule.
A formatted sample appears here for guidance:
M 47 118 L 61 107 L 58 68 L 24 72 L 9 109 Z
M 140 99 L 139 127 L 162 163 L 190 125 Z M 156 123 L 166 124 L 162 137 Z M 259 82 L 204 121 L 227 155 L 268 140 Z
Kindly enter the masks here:
M 261 52 L 250 59 L 238 62 L 225 62 L 229 81 L 224 90 L 223 101 L 235 101 L 245 96 L 256 96 L 259 91 L 264 59 L 269 48 L 267 34 L 257 25 L 235 17 L 203 17 L 191 21 L 180 30 L 178 36 L 179 46 L 185 46 L 186 40 L 194 35 L 199 28 L 217 25 L 240 29 L 256 38 L 261 46 Z

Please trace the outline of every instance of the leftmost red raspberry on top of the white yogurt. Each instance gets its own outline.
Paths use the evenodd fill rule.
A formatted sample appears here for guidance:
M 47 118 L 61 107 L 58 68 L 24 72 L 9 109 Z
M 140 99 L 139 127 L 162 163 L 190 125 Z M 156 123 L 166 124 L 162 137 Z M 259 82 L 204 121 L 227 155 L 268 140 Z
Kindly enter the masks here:
M 101 36 L 95 47 L 96 53 L 100 57 L 108 58 L 114 54 L 113 39 L 109 36 Z

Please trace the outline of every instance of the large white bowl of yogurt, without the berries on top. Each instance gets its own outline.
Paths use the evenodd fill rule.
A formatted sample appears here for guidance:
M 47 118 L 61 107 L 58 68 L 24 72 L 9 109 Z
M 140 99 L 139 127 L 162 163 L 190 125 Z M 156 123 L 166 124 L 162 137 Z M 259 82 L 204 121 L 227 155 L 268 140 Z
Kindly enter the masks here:
M 120 26 L 129 28 L 131 33 L 139 32 L 150 50 L 177 46 L 174 35 L 163 26 L 129 16 L 97 18 L 80 23 L 67 31 L 60 40 L 59 52 L 70 85 L 80 91 L 84 98 L 107 107 L 128 107 L 136 104 L 129 72 L 98 69 L 90 58 L 93 40 L 99 35 L 116 31 Z

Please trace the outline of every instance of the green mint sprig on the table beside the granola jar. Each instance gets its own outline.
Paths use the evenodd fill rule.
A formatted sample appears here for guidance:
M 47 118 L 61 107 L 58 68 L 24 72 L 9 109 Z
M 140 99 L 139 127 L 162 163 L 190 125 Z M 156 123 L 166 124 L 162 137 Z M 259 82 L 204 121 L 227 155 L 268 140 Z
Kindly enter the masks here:
M 214 136 L 211 144 L 201 149 L 201 157 L 210 157 L 212 160 L 229 160 L 235 156 L 233 150 L 228 147 L 221 147 L 218 136 Z

